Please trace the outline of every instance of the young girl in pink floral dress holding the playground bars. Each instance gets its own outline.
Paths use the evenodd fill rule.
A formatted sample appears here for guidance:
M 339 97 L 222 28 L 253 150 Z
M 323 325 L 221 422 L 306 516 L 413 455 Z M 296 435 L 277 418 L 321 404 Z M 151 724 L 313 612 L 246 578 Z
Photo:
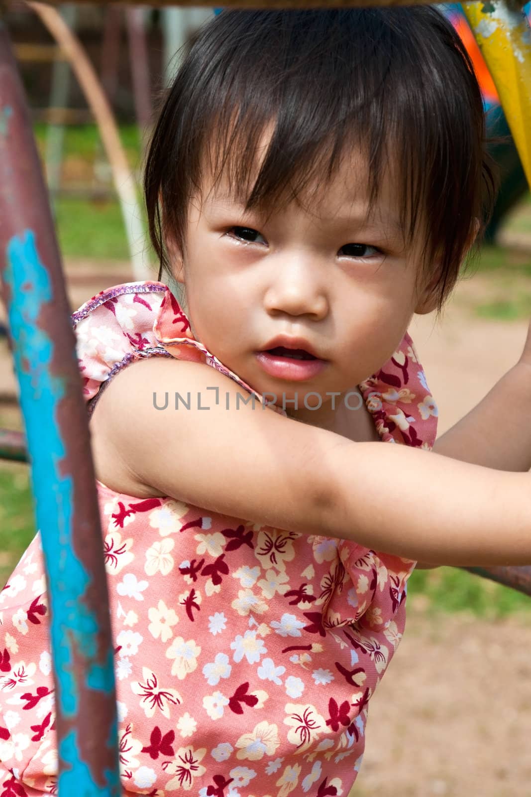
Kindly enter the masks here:
M 416 560 L 531 563 L 531 336 L 435 443 L 407 332 L 488 218 L 483 134 L 428 7 L 225 10 L 193 42 L 146 164 L 182 304 L 73 315 L 123 795 L 348 795 Z M 38 536 L 1 601 L 3 794 L 53 794 Z

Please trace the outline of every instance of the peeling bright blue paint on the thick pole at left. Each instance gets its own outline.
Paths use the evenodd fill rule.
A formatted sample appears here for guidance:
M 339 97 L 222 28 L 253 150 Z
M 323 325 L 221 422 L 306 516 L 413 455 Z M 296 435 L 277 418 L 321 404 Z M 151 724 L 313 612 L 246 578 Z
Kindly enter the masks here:
M 73 545 L 72 477 L 61 475 L 65 449 L 57 410 L 65 395 L 65 385 L 63 379 L 51 373 L 53 340 L 38 327 L 42 308 L 53 301 L 52 284 L 38 255 L 32 230 L 10 239 L 6 263 L 5 281 L 10 293 L 7 309 L 32 463 L 37 528 L 49 574 L 50 630 L 59 685 L 56 699 L 64 717 L 73 719 L 80 705 L 76 683 L 80 670 L 75 670 L 76 663 L 85 660 L 88 665 L 85 681 L 88 689 L 110 695 L 114 689 L 113 651 L 107 652 L 104 665 L 94 661 L 99 629 L 96 614 L 86 602 L 91 577 L 77 559 Z M 108 773 L 108 790 L 96 787 L 87 764 L 80 760 L 74 732 L 61 742 L 61 750 L 71 768 L 61 774 L 60 794 L 109 797 L 119 794 L 118 767 Z

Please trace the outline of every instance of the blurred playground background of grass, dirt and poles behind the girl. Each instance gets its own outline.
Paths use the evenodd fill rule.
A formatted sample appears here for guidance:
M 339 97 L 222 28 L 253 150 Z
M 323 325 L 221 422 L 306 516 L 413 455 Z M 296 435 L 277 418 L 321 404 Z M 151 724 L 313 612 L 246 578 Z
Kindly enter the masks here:
M 410 328 L 442 434 L 517 362 L 523 347 L 531 317 L 531 195 L 467 22 L 459 6 L 440 7 L 474 60 L 490 135 L 502 139 L 492 145 L 502 190 L 486 242 L 463 265 L 443 319 L 418 316 Z M 29 99 L 72 310 L 103 288 L 157 278 L 139 191 L 143 154 L 154 109 L 191 37 L 213 14 L 210 8 L 61 6 L 111 109 L 102 132 L 64 45 L 27 6 L 8 4 L 5 21 Z M 115 179 L 123 159 L 136 197 L 124 190 L 123 172 L 122 183 Z M 529 423 L 528 406 L 506 411 L 521 411 L 522 423 Z M 22 429 L 1 304 L 0 427 Z M 34 533 L 28 468 L 0 460 L 0 587 Z M 439 568 L 412 575 L 408 601 L 408 633 L 373 700 L 357 795 L 392 789 L 408 797 L 531 797 L 531 599 Z

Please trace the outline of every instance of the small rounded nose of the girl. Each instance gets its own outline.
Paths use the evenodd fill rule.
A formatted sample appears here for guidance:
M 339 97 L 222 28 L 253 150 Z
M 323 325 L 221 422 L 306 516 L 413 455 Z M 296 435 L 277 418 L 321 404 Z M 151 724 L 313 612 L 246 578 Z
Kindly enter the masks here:
M 328 289 L 318 265 L 300 257 L 283 259 L 272 275 L 264 306 L 271 313 L 324 318 L 329 309 Z

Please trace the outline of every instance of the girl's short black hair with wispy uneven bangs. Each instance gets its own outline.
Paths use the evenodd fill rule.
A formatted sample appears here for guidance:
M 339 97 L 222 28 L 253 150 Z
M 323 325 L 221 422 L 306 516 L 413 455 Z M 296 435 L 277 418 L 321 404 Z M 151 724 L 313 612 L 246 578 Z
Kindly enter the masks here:
M 215 184 L 226 173 L 245 210 L 272 212 L 310 179 L 330 180 L 349 147 L 367 154 L 371 204 L 386 163 L 396 163 L 404 238 L 422 228 L 421 276 L 435 279 L 440 312 L 492 214 L 497 179 L 470 57 L 430 6 L 225 9 L 199 29 L 146 157 L 158 279 L 170 271 L 166 235 L 185 252 L 189 198 L 201 191 L 205 157 L 214 156 Z

